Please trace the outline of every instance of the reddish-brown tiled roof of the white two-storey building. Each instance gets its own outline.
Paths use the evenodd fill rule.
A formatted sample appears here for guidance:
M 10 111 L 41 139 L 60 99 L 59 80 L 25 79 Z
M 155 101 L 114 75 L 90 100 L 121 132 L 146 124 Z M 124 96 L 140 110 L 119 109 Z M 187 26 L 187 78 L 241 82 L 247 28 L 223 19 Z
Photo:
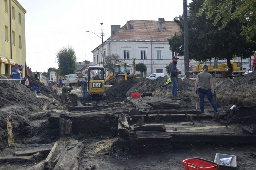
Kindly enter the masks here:
M 175 32 L 180 34 L 180 27 L 174 21 L 164 21 L 162 26 L 160 32 L 159 21 L 130 20 L 130 30 L 124 25 L 107 41 L 167 41 Z

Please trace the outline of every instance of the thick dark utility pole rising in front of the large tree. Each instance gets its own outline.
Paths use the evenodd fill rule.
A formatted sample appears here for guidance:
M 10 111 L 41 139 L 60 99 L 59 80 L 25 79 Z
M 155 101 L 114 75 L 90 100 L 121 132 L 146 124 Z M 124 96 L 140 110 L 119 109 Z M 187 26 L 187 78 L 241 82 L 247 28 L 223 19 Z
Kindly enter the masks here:
M 187 31 L 187 0 L 183 0 L 183 18 L 184 18 L 184 69 L 185 78 L 189 79 L 189 62 L 188 62 L 188 31 Z

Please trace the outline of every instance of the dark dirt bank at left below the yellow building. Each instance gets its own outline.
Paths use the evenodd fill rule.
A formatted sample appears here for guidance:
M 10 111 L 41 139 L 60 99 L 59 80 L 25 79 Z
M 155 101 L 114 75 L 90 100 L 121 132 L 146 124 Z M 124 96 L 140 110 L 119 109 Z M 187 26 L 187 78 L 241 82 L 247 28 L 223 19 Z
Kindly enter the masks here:
M 0 75 L 0 79 L 11 78 Z M 23 84 L 13 80 L 0 80 L 0 150 L 31 132 L 33 124 L 29 116 L 32 113 L 45 110 L 52 98 L 59 99 L 53 89 L 38 81 L 29 78 L 29 86 L 38 86 L 42 94 L 50 98 L 43 95 L 36 97 L 36 94 Z

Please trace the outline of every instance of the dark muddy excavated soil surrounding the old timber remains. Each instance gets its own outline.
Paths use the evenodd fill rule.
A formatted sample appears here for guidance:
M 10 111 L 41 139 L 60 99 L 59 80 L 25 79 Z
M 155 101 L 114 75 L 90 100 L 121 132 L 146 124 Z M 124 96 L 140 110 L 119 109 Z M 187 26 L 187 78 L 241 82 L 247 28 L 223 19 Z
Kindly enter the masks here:
M 6 79 L 0 75 L 0 79 Z M 82 100 L 83 104 L 92 103 L 108 105 L 103 110 L 105 113 L 120 113 L 128 109 L 136 110 L 196 110 L 195 81 L 178 81 L 178 95 L 182 98 L 178 102 L 179 107 L 164 107 L 171 100 L 172 85 L 161 88 L 166 78 L 149 80 L 139 78 L 137 80 L 121 81 L 112 86 L 106 86 L 106 100 Z M 256 105 L 256 72 L 235 77 L 233 79 L 215 78 L 214 86 L 217 93 L 217 106 L 221 113 L 225 113 L 232 105 L 255 106 Z M 29 87 L 38 86 L 41 95 L 38 98 Z M 77 106 L 81 99 L 81 89 L 74 88 L 69 97 L 72 104 L 61 104 L 61 89 L 47 87 L 44 84 L 29 79 L 29 87 L 22 84 L 0 80 L 0 151 L 1 157 L 13 156 L 14 151 L 22 151 L 38 145 L 52 146 L 59 139 L 58 129 L 52 128 L 48 117 L 53 114 L 68 112 L 69 106 Z M 152 92 L 152 97 L 131 98 L 132 92 Z M 52 101 L 55 100 L 53 106 Z M 118 103 L 119 102 L 119 103 Z M 198 107 L 199 110 L 199 107 Z M 206 112 L 213 113 L 210 103 L 205 101 Z M 35 119 L 32 114 L 45 112 L 47 117 Z M 87 111 L 92 112 L 92 111 Z M 93 111 L 97 113 L 97 111 Z M 102 112 L 99 111 L 99 112 Z M 248 117 L 248 123 L 255 122 Z M 213 123 L 214 121 L 212 121 Z M 210 122 L 211 123 L 211 122 Z M 74 133 L 70 139 L 82 141 L 85 147 L 79 157 L 79 169 L 85 169 L 96 165 L 96 169 L 184 169 L 182 160 L 191 157 L 200 157 L 214 160 L 216 153 L 237 156 L 237 169 L 255 169 L 256 151 L 255 145 L 236 143 L 178 143 L 176 151 L 171 145 L 163 146 L 157 150 L 152 148 L 152 153 L 130 155 L 120 157 L 116 154 L 109 155 L 111 142 L 117 137 L 117 132 L 104 133 L 93 131 L 87 133 Z M 42 158 L 43 159 L 43 158 Z M 45 158 L 44 158 L 45 159 Z M 39 163 L 40 160 L 28 162 L 5 162 L 0 163 L 0 169 L 28 169 Z

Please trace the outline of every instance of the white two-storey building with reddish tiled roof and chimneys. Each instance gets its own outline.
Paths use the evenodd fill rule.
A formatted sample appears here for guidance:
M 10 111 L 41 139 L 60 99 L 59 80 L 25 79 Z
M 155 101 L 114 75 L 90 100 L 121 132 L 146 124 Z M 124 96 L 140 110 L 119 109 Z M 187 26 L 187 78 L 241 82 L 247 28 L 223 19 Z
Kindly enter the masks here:
M 163 18 L 158 21 L 130 20 L 122 28 L 120 25 L 111 25 L 111 37 L 103 42 L 104 56 L 118 54 L 130 66 L 135 58 L 136 64 L 144 63 L 147 66 L 144 76 L 151 73 L 166 75 L 165 67 L 176 55 L 169 50 L 167 38 L 175 32 L 180 33 L 178 24 Z M 99 66 L 103 61 L 102 46 L 99 45 L 92 52 L 94 64 Z M 184 71 L 184 57 L 179 59 L 177 68 Z

